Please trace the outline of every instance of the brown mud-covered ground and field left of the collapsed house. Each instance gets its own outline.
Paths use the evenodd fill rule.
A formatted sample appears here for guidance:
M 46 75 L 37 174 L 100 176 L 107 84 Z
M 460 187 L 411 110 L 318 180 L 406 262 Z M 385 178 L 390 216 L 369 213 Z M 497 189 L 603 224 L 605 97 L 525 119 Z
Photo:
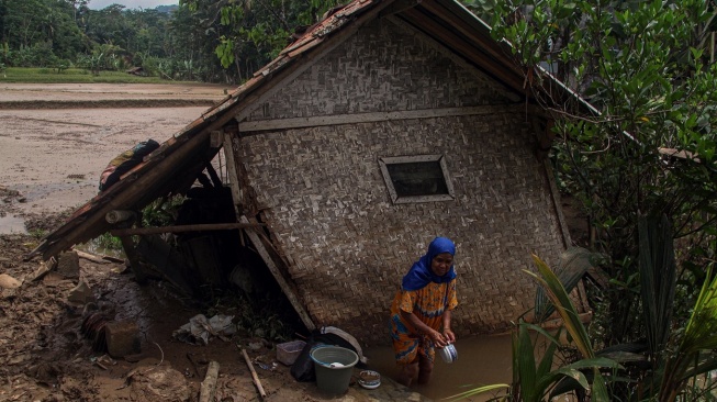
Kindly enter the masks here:
M 24 260 L 43 234 L 97 193 L 99 175 L 112 157 L 148 137 L 165 141 L 224 98 L 225 88 L 4 83 L 0 88 L 0 401 L 197 401 L 210 361 L 220 364 L 213 400 L 262 400 L 242 349 L 267 394 L 264 400 L 332 399 L 314 382 L 294 381 L 289 367 L 277 362 L 276 343 L 257 335 L 261 323 L 245 323 L 232 336 L 212 336 L 206 346 L 172 337 L 200 313 L 251 314 L 232 292 L 198 301 L 178 295 L 161 281 L 138 286 L 124 263 L 100 255 L 80 253 L 76 276 L 57 271 L 38 276 L 46 265 Z M 64 101 L 76 103 L 68 108 Z M 77 102 L 85 103 L 77 109 Z M 113 102 L 121 108 L 112 108 Z M 24 230 L 3 231 L 10 219 L 24 222 Z M 89 287 L 82 294 L 92 302 L 69 298 L 80 282 Z M 135 323 L 141 351 L 111 358 L 93 350 L 97 334 L 83 333 L 81 325 L 97 312 L 107 323 Z M 335 400 L 422 397 L 384 379 L 373 391 L 352 382 Z

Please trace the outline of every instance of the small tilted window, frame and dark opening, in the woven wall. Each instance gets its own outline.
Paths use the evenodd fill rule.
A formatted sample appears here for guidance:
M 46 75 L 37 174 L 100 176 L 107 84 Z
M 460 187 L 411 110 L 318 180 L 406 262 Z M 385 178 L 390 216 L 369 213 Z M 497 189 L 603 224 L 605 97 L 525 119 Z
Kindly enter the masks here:
M 442 155 L 384 157 L 379 164 L 394 203 L 453 199 Z

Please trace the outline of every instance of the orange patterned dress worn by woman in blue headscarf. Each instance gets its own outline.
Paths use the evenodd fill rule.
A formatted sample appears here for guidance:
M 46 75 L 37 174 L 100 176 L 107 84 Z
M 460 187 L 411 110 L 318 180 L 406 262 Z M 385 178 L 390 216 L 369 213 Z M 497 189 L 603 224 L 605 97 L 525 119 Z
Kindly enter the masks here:
M 456 279 L 444 283 L 429 282 L 418 290 L 400 289 L 391 304 L 391 338 L 396 362 L 408 365 L 416 360 L 418 353 L 433 361 L 436 354 L 433 342 L 403 320 L 401 310 L 413 313 L 424 324 L 440 332 L 444 311 L 457 305 Z

